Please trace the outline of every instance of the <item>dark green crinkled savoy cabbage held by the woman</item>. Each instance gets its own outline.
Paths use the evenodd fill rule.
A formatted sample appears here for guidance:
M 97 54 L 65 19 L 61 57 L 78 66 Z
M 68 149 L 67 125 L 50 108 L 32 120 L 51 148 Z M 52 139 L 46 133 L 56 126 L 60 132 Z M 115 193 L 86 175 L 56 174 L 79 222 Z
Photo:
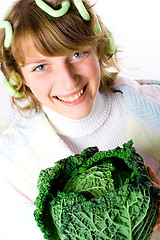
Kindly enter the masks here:
M 110 151 L 87 148 L 41 171 L 35 219 L 45 239 L 147 240 L 159 190 L 150 185 L 132 141 Z

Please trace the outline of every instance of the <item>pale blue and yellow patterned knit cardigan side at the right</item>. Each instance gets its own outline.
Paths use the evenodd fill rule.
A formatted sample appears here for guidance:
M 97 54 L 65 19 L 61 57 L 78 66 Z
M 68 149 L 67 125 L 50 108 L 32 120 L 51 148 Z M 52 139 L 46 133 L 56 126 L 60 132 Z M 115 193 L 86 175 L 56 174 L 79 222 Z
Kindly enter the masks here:
M 160 178 L 160 81 L 120 78 L 115 89 L 123 93 L 127 140 Z

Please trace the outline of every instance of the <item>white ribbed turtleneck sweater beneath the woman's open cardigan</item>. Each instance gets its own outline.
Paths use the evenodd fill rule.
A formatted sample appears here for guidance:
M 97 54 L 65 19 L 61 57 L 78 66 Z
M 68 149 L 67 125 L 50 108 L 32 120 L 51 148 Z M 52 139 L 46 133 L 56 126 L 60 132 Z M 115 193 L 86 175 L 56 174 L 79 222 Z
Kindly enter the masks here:
M 91 113 L 73 120 L 43 107 L 57 134 L 74 153 L 86 147 L 113 149 L 126 142 L 126 113 L 122 93 L 97 94 Z

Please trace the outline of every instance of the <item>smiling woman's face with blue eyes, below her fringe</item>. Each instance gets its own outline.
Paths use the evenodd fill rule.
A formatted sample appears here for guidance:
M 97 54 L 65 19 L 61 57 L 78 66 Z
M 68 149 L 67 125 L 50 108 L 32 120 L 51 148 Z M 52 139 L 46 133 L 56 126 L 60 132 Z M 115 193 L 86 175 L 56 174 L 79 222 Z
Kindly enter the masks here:
M 41 104 L 71 119 L 90 113 L 100 85 L 100 65 L 93 49 L 60 57 L 46 57 L 34 49 L 21 70 Z

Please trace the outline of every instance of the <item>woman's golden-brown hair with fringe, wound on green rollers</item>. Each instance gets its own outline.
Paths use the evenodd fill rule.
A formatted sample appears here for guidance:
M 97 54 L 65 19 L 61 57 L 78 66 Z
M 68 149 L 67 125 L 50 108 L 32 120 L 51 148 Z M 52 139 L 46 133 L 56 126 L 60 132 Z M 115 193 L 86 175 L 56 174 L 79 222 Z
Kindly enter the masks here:
M 46 0 L 47 4 L 58 8 L 62 2 Z M 25 64 L 25 55 L 30 51 L 31 42 L 36 49 L 45 56 L 64 56 L 75 51 L 83 51 L 87 48 L 96 48 L 100 57 L 101 83 L 100 91 L 110 89 L 116 81 L 119 68 L 116 61 L 116 54 L 108 54 L 108 33 L 105 26 L 99 19 L 102 34 L 97 34 L 95 27 L 96 17 L 92 6 L 87 0 L 83 3 L 91 16 L 90 21 L 85 21 L 79 14 L 72 0 L 68 12 L 60 17 L 53 18 L 42 11 L 35 3 L 35 0 L 17 1 L 5 20 L 13 26 L 13 40 L 9 49 L 4 48 L 5 32 L 0 32 L 0 62 L 1 70 L 7 79 L 14 71 L 18 75 L 19 88 L 23 91 L 23 98 L 12 97 L 12 103 L 19 110 L 26 111 L 35 109 L 41 110 L 41 104 L 33 95 L 29 87 L 24 83 L 24 77 L 20 65 Z M 112 68 L 114 71 L 110 71 Z M 22 101 L 26 101 L 24 106 Z M 22 106 L 21 106 L 22 105 Z

